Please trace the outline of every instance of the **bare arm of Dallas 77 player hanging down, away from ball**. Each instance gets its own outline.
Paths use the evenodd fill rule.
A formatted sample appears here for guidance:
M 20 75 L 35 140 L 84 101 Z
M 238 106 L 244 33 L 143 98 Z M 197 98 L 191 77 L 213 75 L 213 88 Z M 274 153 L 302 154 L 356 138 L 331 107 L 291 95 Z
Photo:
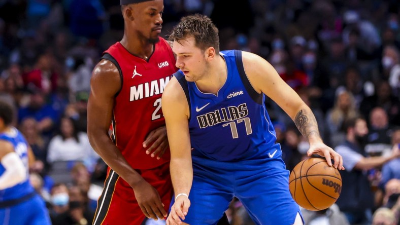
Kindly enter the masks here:
M 175 77 L 165 87 L 161 106 L 171 150 L 171 179 L 177 196 L 167 224 L 177 224 L 185 218 L 190 206 L 187 196 L 192 185 L 193 168 L 188 124 L 189 106 L 184 91 Z

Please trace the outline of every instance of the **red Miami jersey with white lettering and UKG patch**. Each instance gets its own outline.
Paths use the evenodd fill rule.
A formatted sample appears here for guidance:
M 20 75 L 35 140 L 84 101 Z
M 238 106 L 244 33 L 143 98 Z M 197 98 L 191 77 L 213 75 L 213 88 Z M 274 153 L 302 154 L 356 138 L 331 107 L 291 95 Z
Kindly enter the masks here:
M 148 61 L 130 54 L 119 42 L 103 55 L 116 64 L 120 72 L 122 88 L 115 97 L 113 136 L 118 149 L 134 169 L 151 169 L 170 161 L 169 149 L 157 160 L 146 155 L 142 145 L 150 131 L 165 125 L 161 94 L 177 70 L 170 45 L 159 39 Z

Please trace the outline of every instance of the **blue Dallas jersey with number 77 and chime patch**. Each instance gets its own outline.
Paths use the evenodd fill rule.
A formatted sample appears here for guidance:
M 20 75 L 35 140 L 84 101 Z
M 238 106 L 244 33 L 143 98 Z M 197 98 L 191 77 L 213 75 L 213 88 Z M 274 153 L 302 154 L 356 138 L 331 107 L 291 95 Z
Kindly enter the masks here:
M 251 86 L 241 51 L 221 51 L 221 55 L 227 79 L 217 95 L 199 91 L 180 70 L 174 74 L 190 106 L 192 155 L 217 161 L 270 158 L 266 153 L 275 144 L 276 134 L 265 109 L 265 96 Z

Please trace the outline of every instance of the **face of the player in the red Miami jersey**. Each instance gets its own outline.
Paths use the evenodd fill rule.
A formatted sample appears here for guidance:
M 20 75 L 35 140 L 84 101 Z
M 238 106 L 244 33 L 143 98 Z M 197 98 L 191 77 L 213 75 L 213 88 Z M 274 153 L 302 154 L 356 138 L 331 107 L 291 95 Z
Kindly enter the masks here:
M 132 23 L 139 36 L 150 43 L 157 43 L 161 33 L 163 0 L 154 0 L 132 5 L 134 20 Z

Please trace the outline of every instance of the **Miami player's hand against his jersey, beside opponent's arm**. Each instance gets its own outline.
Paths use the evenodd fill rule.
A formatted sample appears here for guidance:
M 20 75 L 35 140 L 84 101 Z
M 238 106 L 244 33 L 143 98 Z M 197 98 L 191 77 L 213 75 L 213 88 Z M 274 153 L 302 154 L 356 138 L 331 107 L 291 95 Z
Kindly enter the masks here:
M 161 159 L 162 155 L 164 155 L 166 148 L 168 148 L 168 137 L 166 136 L 166 128 L 165 126 L 159 127 L 155 130 L 152 130 L 146 137 L 146 140 L 143 142 L 143 147 L 146 148 L 151 146 L 146 150 L 146 154 L 151 157 L 157 157 L 157 159 Z

